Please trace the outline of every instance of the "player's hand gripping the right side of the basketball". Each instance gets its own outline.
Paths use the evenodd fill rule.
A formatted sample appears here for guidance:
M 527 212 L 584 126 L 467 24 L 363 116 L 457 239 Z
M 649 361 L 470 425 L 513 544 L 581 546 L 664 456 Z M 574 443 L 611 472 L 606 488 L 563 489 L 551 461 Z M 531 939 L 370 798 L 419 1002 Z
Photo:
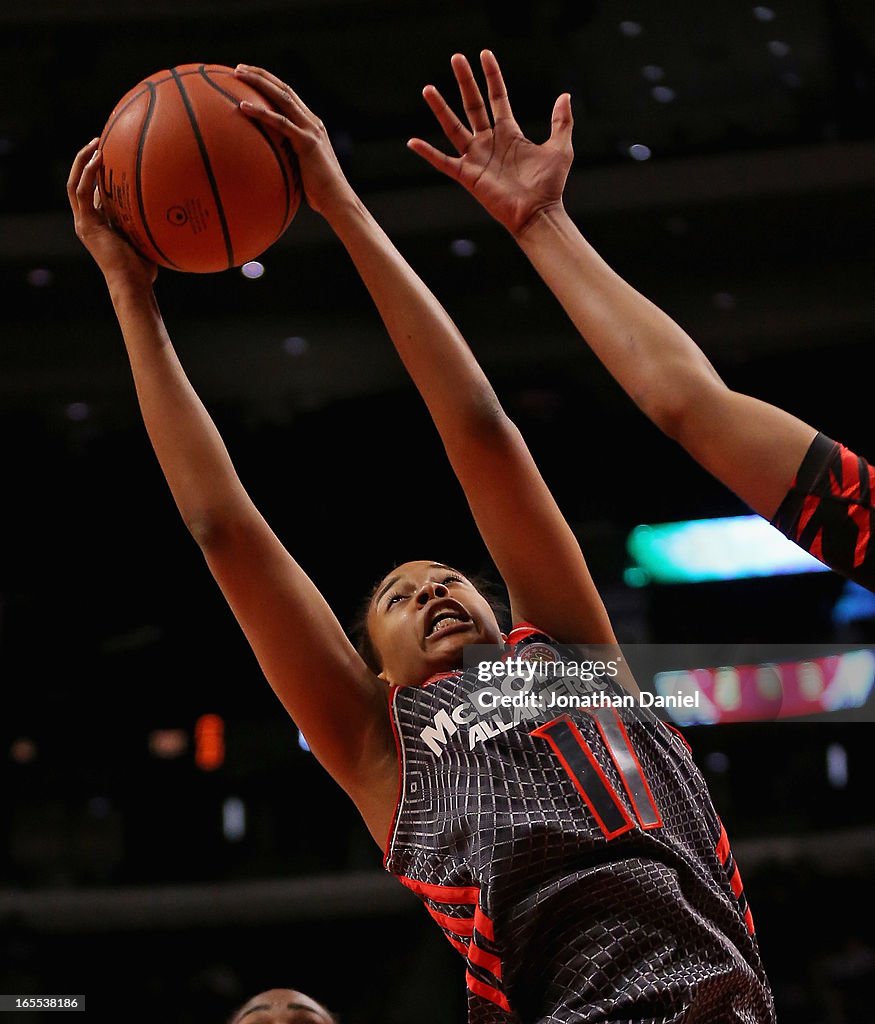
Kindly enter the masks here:
M 263 68 L 238 65 L 235 75 L 257 89 L 268 104 L 243 100 L 240 109 L 289 139 L 298 158 L 307 203 L 317 213 L 330 213 L 333 204 L 351 195 L 351 188 L 325 125 L 290 86 Z

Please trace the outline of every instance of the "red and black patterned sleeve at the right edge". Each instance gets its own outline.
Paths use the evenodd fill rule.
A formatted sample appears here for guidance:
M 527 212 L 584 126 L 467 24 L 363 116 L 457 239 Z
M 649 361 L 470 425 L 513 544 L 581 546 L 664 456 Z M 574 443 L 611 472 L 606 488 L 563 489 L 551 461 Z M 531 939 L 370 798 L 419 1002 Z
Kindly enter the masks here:
M 875 468 L 818 434 L 773 525 L 842 575 L 875 591 Z

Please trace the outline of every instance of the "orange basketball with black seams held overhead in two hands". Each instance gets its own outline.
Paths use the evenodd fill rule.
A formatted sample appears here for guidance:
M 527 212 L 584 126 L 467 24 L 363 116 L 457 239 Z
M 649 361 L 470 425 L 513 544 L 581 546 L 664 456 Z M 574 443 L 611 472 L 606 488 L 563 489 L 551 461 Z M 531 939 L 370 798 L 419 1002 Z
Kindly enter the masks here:
M 221 65 L 143 79 L 100 136 L 97 187 L 113 226 L 147 259 L 210 273 L 272 246 L 301 199 L 287 138 L 239 110 L 264 97 Z

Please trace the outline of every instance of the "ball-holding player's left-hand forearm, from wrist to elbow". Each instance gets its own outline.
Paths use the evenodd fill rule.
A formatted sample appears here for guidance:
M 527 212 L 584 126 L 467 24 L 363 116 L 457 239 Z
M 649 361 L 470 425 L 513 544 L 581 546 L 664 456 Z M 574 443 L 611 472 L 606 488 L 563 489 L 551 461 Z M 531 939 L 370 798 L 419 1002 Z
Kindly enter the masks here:
M 248 503 L 224 444 L 176 356 L 150 288 L 108 281 L 150 440 L 186 525 Z

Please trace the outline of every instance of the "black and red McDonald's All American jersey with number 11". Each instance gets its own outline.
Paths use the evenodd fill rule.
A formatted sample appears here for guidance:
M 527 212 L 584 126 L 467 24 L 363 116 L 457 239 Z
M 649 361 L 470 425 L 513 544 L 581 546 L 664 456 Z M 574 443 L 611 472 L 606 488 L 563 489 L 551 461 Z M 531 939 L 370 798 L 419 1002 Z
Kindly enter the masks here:
M 508 650 L 569 664 L 531 627 Z M 605 677 L 513 685 L 529 695 L 512 708 L 476 668 L 390 698 L 385 866 L 465 957 L 469 1022 L 774 1022 L 738 868 L 679 733 L 617 707 L 633 698 Z M 601 706 L 549 707 L 573 693 Z

